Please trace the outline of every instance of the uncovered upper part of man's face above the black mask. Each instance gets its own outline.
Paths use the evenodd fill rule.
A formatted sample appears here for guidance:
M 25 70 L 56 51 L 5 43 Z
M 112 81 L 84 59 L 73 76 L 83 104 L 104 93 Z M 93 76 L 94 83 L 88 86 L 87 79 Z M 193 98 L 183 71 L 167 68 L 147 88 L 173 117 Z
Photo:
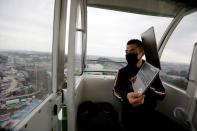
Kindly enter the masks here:
M 139 47 L 137 47 L 136 44 L 127 45 L 125 53 L 126 54 L 136 53 L 137 57 L 138 57 L 138 60 L 141 59 L 142 56 L 144 55 L 144 52 Z

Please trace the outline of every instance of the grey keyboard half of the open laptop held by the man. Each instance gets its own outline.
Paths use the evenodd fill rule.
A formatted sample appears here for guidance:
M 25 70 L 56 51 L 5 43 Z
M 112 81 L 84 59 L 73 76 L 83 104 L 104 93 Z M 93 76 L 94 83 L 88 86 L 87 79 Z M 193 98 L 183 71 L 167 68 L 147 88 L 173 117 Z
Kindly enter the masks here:
M 159 74 L 159 71 L 159 68 L 154 67 L 148 62 L 144 62 L 136 75 L 136 79 L 132 81 L 134 92 L 145 93 Z

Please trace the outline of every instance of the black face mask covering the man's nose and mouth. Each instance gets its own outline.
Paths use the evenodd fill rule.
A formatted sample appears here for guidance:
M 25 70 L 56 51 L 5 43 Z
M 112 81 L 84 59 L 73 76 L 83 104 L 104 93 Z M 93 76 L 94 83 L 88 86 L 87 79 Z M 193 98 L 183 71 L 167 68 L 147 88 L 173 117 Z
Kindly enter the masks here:
M 137 54 L 136 53 L 126 54 L 126 60 L 129 66 L 136 66 L 138 62 Z

